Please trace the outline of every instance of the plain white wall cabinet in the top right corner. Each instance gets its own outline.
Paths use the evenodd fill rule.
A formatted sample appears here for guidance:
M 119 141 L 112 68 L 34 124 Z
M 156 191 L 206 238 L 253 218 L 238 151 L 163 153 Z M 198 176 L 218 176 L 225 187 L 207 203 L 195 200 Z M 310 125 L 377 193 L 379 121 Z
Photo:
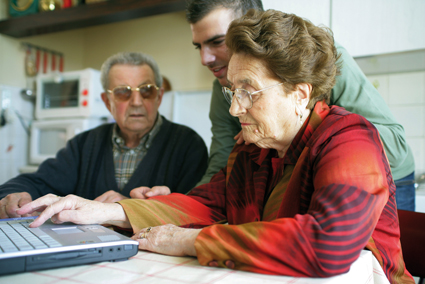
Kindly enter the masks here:
M 425 48 L 424 0 L 334 0 L 331 23 L 354 57 Z

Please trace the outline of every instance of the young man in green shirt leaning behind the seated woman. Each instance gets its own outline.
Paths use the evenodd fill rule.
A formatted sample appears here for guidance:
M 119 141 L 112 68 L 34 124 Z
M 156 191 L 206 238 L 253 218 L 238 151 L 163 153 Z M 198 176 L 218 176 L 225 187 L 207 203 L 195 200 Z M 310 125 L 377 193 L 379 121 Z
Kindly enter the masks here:
M 229 114 L 229 103 L 221 91 L 222 86 L 227 86 L 227 65 L 230 60 L 224 39 L 232 20 L 241 17 L 249 9 L 263 10 L 261 0 L 193 0 L 186 9 L 193 45 L 199 49 L 202 64 L 217 78 L 213 82 L 210 106 L 213 137 L 209 164 L 206 174 L 198 185 L 209 182 L 211 177 L 226 165 L 235 144 L 234 137 L 241 130 L 238 119 Z M 341 75 L 332 90 L 330 103 L 360 114 L 375 125 L 396 182 L 397 206 L 399 209 L 414 211 L 415 188 L 413 184 L 403 184 L 406 183 L 403 181 L 414 179 L 415 169 L 404 129 L 395 120 L 385 101 L 367 80 L 354 59 L 342 46 L 338 44 L 336 46 L 341 53 L 343 65 Z

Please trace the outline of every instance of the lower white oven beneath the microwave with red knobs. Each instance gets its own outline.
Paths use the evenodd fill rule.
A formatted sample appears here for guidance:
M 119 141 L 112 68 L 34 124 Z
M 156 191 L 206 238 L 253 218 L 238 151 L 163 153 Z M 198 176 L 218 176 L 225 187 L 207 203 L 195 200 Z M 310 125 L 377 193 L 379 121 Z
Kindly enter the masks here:
M 102 118 L 45 119 L 31 124 L 30 164 L 41 164 L 65 147 L 75 135 L 106 123 Z

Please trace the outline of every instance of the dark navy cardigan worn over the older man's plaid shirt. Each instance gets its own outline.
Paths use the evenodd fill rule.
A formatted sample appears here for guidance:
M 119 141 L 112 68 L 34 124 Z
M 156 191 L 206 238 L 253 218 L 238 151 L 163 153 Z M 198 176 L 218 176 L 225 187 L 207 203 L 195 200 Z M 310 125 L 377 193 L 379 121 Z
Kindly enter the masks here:
M 113 126 L 101 125 L 75 136 L 56 158 L 43 162 L 37 172 L 21 174 L 1 185 L 0 199 L 23 191 L 33 199 L 47 193 L 94 199 L 109 190 L 120 192 L 112 157 Z M 192 129 L 163 117 L 146 156 L 120 193 L 129 196 L 133 188 L 156 185 L 186 193 L 201 179 L 207 163 L 208 151 L 202 138 Z

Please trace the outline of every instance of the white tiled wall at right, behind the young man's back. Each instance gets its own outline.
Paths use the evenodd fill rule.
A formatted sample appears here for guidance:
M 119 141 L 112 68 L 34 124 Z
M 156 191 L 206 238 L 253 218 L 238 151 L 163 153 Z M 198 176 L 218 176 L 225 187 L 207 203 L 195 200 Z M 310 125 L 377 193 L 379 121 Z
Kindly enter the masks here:
M 355 60 L 404 127 L 418 181 L 425 174 L 425 49 Z M 416 189 L 416 211 L 425 212 L 425 182 Z

